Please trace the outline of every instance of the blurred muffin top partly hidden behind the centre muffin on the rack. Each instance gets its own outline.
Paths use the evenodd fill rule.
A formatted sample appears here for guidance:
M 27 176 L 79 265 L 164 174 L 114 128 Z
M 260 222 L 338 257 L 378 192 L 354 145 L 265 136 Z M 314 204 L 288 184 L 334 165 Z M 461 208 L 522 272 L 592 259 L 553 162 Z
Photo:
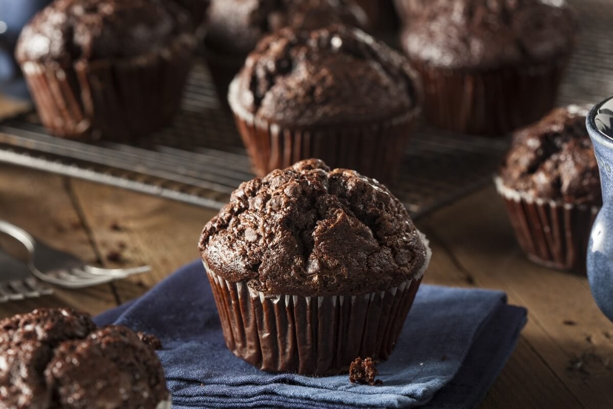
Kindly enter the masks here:
M 207 46 L 246 56 L 270 32 L 312 30 L 333 23 L 364 28 L 367 17 L 352 0 L 212 0 Z

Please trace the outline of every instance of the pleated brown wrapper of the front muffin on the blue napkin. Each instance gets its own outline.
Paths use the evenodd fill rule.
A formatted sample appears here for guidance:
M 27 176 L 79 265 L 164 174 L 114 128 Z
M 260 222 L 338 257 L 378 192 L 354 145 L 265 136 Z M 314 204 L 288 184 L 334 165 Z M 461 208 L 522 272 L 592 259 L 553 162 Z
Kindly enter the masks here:
M 360 296 L 270 296 L 208 268 L 227 348 L 267 372 L 335 375 L 358 356 L 387 359 L 432 253 L 412 280 Z

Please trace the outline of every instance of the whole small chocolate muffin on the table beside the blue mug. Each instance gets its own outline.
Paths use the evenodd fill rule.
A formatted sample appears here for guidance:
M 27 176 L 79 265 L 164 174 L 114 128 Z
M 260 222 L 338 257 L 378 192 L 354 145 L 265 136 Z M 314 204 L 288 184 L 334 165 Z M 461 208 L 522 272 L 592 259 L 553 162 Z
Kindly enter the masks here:
M 590 230 L 602 205 L 600 175 L 585 129 L 587 110 L 552 110 L 514 135 L 498 192 L 528 257 L 584 272 Z

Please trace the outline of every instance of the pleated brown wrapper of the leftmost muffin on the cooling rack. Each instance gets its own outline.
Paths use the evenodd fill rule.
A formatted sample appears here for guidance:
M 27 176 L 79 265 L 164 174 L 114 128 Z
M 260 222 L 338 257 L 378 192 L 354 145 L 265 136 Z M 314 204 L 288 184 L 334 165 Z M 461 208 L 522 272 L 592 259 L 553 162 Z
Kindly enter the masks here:
M 130 141 L 163 128 L 181 103 L 196 49 L 194 36 L 126 59 L 58 63 L 25 61 L 21 69 L 51 134 L 69 139 Z

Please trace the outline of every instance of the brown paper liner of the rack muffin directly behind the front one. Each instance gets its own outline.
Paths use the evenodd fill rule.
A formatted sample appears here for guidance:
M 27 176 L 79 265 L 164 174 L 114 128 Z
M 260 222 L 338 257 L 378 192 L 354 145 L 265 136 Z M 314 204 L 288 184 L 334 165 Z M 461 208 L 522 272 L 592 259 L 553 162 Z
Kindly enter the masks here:
M 258 118 L 237 101 L 238 78 L 230 84 L 228 102 L 254 172 L 267 175 L 302 159 L 322 159 L 330 167 L 355 169 L 390 182 L 397 174 L 419 108 L 387 120 L 346 126 L 292 128 Z

